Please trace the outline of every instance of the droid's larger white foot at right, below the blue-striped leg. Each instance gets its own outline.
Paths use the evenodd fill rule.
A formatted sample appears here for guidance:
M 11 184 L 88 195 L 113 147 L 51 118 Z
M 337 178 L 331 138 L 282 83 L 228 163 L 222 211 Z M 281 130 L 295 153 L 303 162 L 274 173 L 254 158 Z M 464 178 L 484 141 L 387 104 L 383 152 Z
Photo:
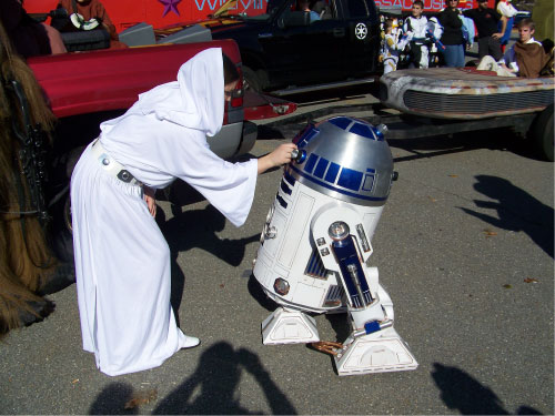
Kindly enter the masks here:
M 334 356 L 340 376 L 415 369 L 418 363 L 393 327 L 370 335 L 351 335 Z

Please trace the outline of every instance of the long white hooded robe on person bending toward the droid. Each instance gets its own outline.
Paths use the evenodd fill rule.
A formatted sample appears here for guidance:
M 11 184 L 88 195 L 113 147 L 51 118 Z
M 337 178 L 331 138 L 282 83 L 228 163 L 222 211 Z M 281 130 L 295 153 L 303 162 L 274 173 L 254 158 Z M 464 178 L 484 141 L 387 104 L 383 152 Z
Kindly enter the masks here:
M 199 341 L 185 336 L 170 305 L 170 250 L 143 200 L 180 177 L 235 226 L 249 214 L 258 162 L 212 153 L 224 114 L 222 51 L 185 62 L 178 80 L 143 94 L 101 124 L 71 180 L 77 290 L 83 348 L 114 376 L 161 365 Z M 115 168 L 115 169 L 114 169 Z

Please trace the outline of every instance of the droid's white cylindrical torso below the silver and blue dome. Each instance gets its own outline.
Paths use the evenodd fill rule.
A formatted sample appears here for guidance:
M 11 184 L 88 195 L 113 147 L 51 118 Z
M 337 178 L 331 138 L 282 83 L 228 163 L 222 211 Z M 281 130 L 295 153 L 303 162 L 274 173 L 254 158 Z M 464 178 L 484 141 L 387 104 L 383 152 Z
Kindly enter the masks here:
M 290 186 L 291 195 L 283 191 L 283 184 Z M 270 210 L 273 215 L 262 232 L 263 243 L 254 264 L 254 276 L 266 294 L 283 306 L 316 313 L 344 308 L 344 290 L 337 275 L 337 262 L 329 247 L 327 227 L 337 219 L 346 222 L 351 230 L 362 224 L 370 242 L 383 206 L 347 204 L 299 181 L 291 185 L 283 180 L 278 195 L 286 205 L 279 199 L 274 200 Z M 269 237 L 265 230 L 274 234 Z M 317 246 L 317 239 L 324 239 L 326 243 Z M 324 248 L 327 248 L 327 255 L 321 253 Z M 361 253 L 362 262 L 374 283 L 371 287 L 377 288 L 377 270 L 366 265 L 371 254 L 372 246 Z M 287 281 L 290 291 L 286 295 L 275 293 L 273 285 L 278 277 Z

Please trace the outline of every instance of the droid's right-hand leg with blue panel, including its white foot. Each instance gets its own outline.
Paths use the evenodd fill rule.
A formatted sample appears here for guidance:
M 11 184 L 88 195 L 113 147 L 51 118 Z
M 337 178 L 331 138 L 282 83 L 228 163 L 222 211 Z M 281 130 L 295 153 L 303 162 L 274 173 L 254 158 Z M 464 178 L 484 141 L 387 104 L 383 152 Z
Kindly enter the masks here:
M 369 275 L 374 274 L 369 277 L 377 284 L 377 268 L 363 267 L 356 242 L 349 234 L 346 224 L 334 240 L 332 250 L 340 266 L 354 328 L 343 346 L 334 349 L 339 375 L 416 368 L 416 359 L 393 328 L 393 304 L 390 296 L 380 285 L 374 290 L 369 286 L 365 271 Z

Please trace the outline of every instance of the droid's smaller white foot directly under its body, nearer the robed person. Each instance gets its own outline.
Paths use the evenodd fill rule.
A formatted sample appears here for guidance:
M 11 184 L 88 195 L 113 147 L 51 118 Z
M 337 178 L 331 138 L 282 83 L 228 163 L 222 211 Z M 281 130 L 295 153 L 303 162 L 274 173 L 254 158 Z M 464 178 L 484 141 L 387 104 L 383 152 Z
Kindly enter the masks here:
M 306 344 L 320 341 L 316 321 L 301 311 L 279 307 L 262 323 L 262 343 Z

